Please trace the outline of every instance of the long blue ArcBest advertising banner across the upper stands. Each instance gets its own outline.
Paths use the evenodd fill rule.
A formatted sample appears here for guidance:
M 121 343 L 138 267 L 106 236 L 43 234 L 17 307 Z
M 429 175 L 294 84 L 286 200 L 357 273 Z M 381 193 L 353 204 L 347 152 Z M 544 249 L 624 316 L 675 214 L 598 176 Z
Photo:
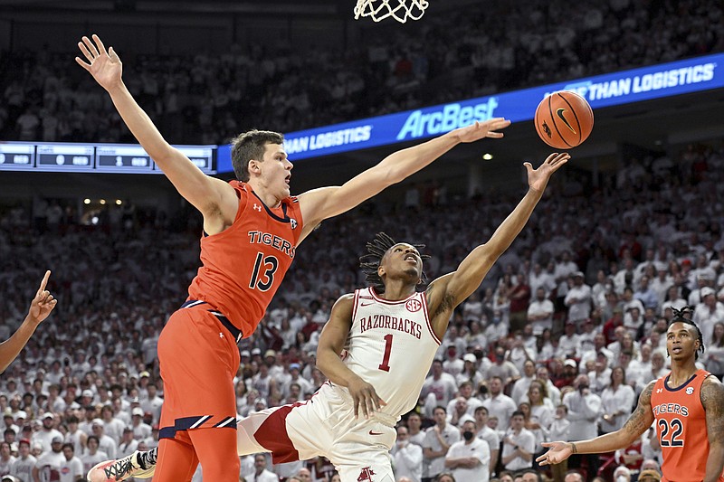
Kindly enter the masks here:
M 530 120 L 540 100 L 557 90 L 574 90 L 587 99 L 593 109 L 600 109 L 719 89 L 724 87 L 724 68 L 719 66 L 722 62 L 724 54 L 719 53 L 301 130 L 286 134 L 284 147 L 291 160 L 300 160 L 439 136 L 476 120 L 495 117 L 510 118 L 513 122 Z M 220 147 L 219 172 L 231 170 L 231 161 L 224 154 Z

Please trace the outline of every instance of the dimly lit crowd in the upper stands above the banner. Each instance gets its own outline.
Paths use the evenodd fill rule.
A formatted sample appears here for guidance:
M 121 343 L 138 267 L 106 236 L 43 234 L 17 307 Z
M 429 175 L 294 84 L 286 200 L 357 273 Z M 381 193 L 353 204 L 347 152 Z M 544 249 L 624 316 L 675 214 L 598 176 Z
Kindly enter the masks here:
M 290 132 L 724 51 L 716 0 L 478 3 L 427 14 L 414 27 L 369 28 L 345 50 L 233 44 L 183 56 L 118 47 L 129 90 L 177 144 L 222 144 L 247 128 Z M 109 97 L 72 61 L 76 53 L 2 53 L 0 138 L 134 142 Z

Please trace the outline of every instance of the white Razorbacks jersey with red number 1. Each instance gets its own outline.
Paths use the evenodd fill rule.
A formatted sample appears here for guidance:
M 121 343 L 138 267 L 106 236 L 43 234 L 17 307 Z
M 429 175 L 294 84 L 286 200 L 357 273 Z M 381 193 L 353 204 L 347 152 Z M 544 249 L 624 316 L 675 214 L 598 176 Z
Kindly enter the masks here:
M 355 291 L 343 361 L 375 387 L 387 403 L 383 414 L 399 420 L 417 405 L 439 346 L 424 293 L 388 301 L 379 298 L 373 288 Z

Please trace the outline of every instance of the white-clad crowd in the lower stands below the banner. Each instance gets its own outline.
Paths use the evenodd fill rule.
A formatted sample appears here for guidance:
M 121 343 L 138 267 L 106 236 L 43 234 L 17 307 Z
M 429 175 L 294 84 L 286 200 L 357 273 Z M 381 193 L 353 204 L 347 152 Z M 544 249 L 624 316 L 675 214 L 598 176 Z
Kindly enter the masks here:
M 460 452 L 453 442 L 465 431 L 489 443 L 487 473 L 512 480 L 509 471 L 534 467 L 523 454 L 539 453 L 542 441 L 620 428 L 643 385 L 666 371 L 662 333 L 672 308 L 695 307 L 707 347 L 699 364 L 720 378 L 723 172 L 719 139 L 673 158 L 631 159 L 597 189 L 565 172 L 554 177 L 527 228 L 452 317 L 419 405 L 399 425 L 398 477 L 452 470 L 466 480 L 465 468 L 445 461 Z M 375 232 L 427 244 L 425 273 L 434 279 L 488 239 L 520 195 L 442 193 L 428 186 L 401 196 L 397 209 L 367 203 L 310 237 L 240 345 L 241 416 L 304 400 L 324 382 L 319 332 L 334 301 L 363 285 L 357 258 Z M 157 339 L 198 267 L 198 220 L 121 215 L 84 225 L 70 213 L 49 226 L 32 210 L 1 212 L 0 339 L 23 319 L 44 269 L 59 304 L 0 378 L 0 476 L 32 480 L 33 467 L 62 463 L 80 463 L 85 474 L 102 458 L 153 447 L 163 402 Z M 571 463 L 589 479 L 602 464 L 635 478 L 655 465 L 642 468 L 644 460 L 661 461 L 655 440 L 650 430 L 621 453 Z M 334 474 L 323 458 L 268 464 L 244 458 L 242 475 Z M 567 477 L 560 466 L 550 475 Z

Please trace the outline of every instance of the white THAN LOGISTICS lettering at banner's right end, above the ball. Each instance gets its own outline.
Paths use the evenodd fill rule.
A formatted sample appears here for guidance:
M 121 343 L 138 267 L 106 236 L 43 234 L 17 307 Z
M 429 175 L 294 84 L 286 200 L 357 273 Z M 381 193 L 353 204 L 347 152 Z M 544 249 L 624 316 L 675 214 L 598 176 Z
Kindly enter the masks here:
M 700 63 L 679 69 L 652 71 L 643 75 L 621 77 L 595 82 L 585 80 L 567 84 L 563 90 L 572 90 L 588 100 L 611 99 L 652 90 L 672 89 L 714 80 L 715 62 Z M 550 92 L 546 92 L 548 95 Z M 543 96 L 545 97 L 545 96 Z

